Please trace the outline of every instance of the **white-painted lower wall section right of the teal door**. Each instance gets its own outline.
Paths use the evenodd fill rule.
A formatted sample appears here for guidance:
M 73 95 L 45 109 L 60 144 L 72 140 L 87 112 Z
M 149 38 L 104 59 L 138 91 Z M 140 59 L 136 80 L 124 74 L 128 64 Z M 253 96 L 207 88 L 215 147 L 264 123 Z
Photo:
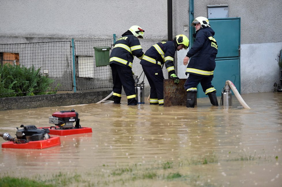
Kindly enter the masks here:
M 276 59 L 282 49 L 282 42 L 243 44 L 241 48 L 241 93 L 274 90 L 274 83 L 280 84 Z

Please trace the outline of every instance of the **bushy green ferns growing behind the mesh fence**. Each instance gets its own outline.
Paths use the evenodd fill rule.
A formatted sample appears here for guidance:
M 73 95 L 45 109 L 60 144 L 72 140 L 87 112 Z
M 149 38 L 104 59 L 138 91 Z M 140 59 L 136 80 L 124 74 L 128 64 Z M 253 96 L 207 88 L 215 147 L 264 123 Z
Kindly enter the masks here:
M 54 80 L 41 75 L 40 68 L 35 70 L 34 66 L 0 66 L 0 98 L 53 94 L 56 91 L 47 92 L 53 82 Z

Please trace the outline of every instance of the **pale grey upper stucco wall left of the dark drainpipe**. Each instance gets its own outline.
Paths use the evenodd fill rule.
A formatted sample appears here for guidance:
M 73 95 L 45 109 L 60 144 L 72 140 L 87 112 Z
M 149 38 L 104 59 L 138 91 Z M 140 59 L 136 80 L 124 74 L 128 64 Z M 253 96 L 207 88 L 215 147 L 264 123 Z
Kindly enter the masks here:
M 136 24 L 147 39 L 167 38 L 163 0 L 1 1 L 0 15 L 0 36 L 112 38 Z

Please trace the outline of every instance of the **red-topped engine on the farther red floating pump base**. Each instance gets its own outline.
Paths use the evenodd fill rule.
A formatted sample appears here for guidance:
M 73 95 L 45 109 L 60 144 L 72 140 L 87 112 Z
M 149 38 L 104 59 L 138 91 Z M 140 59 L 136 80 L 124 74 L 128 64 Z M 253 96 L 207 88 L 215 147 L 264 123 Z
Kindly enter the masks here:
M 49 123 L 59 126 L 60 129 L 80 128 L 79 121 L 78 113 L 74 109 L 55 112 L 49 117 Z M 76 122 L 75 126 L 74 122 Z

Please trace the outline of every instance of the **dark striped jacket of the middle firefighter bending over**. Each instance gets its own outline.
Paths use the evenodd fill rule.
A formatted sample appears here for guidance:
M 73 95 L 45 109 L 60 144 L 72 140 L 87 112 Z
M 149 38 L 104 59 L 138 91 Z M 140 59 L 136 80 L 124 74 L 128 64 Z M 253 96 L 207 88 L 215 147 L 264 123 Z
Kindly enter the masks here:
M 165 64 L 168 74 L 175 74 L 173 59 L 176 51 L 175 41 L 163 41 L 151 46 L 144 54 L 140 64 L 160 66 Z

